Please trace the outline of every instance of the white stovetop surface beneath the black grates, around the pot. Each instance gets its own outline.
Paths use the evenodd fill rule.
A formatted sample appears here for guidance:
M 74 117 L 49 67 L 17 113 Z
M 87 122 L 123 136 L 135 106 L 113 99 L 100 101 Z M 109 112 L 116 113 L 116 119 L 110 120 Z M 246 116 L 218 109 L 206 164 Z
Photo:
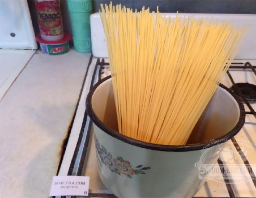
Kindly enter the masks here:
M 97 59 L 93 58 L 92 62 L 88 68 L 87 79 L 85 80 L 85 86 L 83 89 L 82 96 L 87 95 L 89 91 L 89 86 L 95 84 L 99 78 L 104 78 L 110 75 L 110 69 L 108 65 L 105 63 L 100 64 L 100 61 L 105 61 L 108 63 L 108 59 Z M 250 62 L 254 67 L 256 65 L 256 60 L 235 60 L 234 62 L 239 64 L 232 64 L 232 66 L 244 66 L 246 62 Z M 252 70 L 249 69 L 229 69 L 230 74 L 233 77 L 233 80 L 237 82 L 249 82 L 251 84 L 256 85 L 256 76 Z M 99 75 L 100 73 L 100 75 Z M 223 80 L 221 81 L 227 87 L 231 87 L 232 83 L 228 77 L 225 75 Z M 81 112 L 85 110 L 84 107 L 85 97 L 81 98 Z M 256 110 L 256 103 L 250 103 L 254 110 Z M 246 111 L 249 111 L 246 105 Z M 79 109 L 79 108 L 78 108 Z M 81 115 L 76 115 L 77 118 L 81 119 L 83 117 L 83 113 Z M 59 175 L 73 174 L 73 175 L 86 175 L 90 176 L 90 195 L 92 197 L 101 197 L 108 196 L 114 197 L 114 195 L 108 191 L 108 189 L 101 182 L 98 172 L 97 172 L 97 163 L 95 157 L 95 146 L 93 141 L 93 136 L 89 137 L 89 134 L 92 134 L 91 123 L 89 122 L 89 118 L 86 118 L 85 130 L 87 133 L 84 133 L 82 139 L 86 140 L 86 137 L 89 139 L 88 146 L 86 145 L 86 141 L 80 146 L 79 152 L 82 151 L 86 147 L 86 156 L 85 160 L 81 160 L 81 156 L 77 156 L 74 169 L 70 171 L 70 163 L 67 163 L 69 160 L 71 162 L 72 156 L 67 156 L 65 154 L 64 160 L 62 162 L 62 166 L 60 169 Z M 73 126 L 78 131 L 81 128 L 81 124 L 77 124 L 77 126 Z M 198 191 L 195 197 L 256 197 L 256 187 L 253 183 L 251 175 L 248 173 L 244 163 L 245 157 L 250 164 L 253 172 L 256 173 L 256 118 L 252 114 L 246 115 L 246 122 L 241 131 L 234 137 L 239 146 L 241 147 L 242 153 L 238 152 L 235 148 L 234 144 L 231 140 L 229 140 L 229 144 L 225 147 L 227 148 L 221 154 L 221 160 L 224 164 L 225 168 L 228 169 L 237 169 L 240 172 L 236 172 L 231 174 L 229 177 L 230 181 L 225 183 L 223 179 L 223 175 L 220 173 L 220 166 L 216 164 L 215 169 L 212 173 L 209 174 L 211 176 L 221 176 L 218 181 L 207 181 L 205 185 Z M 251 146 L 251 147 L 250 147 Z M 69 145 L 67 147 L 67 151 Z M 69 159 L 68 159 L 69 158 Z M 233 159 L 233 160 L 231 160 Z M 80 162 L 80 164 L 79 164 Z M 232 163 L 231 163 L 232 162 Z M 66 165 L 65 165 L 66 164 Z M 80 171 L 78 170 L 82 168 Z M 219 172 L 218 172 L 219 171 Z M 244 171 L 243 174 L 240 174 L 241 171 Z M 247 172 L 246 172 L 247 171 Z M 246 176 L 246 177 L 245 177 Z M 237 182 L 236 182 L 237 181 Z

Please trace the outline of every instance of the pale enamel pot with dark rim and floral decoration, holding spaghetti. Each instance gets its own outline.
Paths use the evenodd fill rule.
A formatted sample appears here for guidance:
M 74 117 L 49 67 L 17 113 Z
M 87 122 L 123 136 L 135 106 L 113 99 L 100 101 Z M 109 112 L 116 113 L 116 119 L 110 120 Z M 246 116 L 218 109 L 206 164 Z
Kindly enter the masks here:
M 224 142 L 245 122 L 243 104 L 223 85 L 186 145 L 150 144 L 118 133 L 110 76 L 90 90 L 86 109 L 93 121 L 99 176 L 113 194 L 125 198 L 194 196 L 205 182 L 196 164 L 214 165 Z

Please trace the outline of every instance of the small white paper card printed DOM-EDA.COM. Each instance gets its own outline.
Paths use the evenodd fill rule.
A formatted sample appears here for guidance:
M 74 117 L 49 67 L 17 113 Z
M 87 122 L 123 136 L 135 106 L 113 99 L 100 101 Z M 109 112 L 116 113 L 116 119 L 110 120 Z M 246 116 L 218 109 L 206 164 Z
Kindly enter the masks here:
M 88 196 L 88 176 L 54 176 L 50 196 Z

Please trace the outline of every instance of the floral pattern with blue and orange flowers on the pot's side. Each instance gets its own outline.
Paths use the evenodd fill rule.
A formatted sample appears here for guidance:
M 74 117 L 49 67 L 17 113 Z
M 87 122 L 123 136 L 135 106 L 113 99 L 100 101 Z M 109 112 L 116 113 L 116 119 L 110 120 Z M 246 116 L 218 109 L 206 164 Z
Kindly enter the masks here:
M 132 178 L 132 175 L 146 174 L 143 170 L 151 169 L 150 167 L 143 167 L 142 165 L 138 165 L 133 168 L 130 162 L 123 160 L 122 157 L 113 158 L 105 147 L 99 143 L 98 138 L 96 136 L 94 137 L 95 147 L 99 159 L 101 159 L 102 163 L 107 166 L 111 172 L 115 172 L 118 175 L 126 175 L 129 178 Z

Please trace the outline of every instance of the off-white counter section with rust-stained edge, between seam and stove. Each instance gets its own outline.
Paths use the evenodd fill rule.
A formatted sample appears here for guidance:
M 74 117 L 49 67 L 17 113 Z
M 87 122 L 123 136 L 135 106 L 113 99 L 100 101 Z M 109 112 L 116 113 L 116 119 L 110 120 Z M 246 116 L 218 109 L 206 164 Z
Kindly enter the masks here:
M 37 51 L 2 98 L 0 197 L 49 196 L 89 58 Z

